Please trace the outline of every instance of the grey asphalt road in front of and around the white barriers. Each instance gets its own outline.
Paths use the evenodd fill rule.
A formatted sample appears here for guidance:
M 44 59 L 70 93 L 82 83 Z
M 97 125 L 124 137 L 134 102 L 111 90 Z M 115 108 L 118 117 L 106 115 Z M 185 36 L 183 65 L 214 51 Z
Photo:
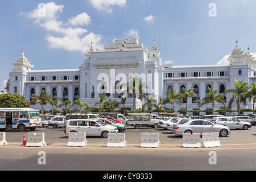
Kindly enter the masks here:
M 232 130 L 220 138 L 221 147 L 182 148 L 182 137 L 163 129 L 130 127 L 125 148 L 106 148 L 107 139 L 86 137 L 86 147 L 66 147 L 64 129 L 36 129 L 44 132 L 47 146 L 22 147 L 23 135 L 31 131 L 6 131 L 9 144 L 0 146 L 0 170 L 256 170 L 256 126 Z M 142 132 L 158 132 L 159 148 L 140 148 Z M 46 152 L 46 165 L 39 165 L 39 151 Z M 215 151 L 217 164 L 209 164 Z

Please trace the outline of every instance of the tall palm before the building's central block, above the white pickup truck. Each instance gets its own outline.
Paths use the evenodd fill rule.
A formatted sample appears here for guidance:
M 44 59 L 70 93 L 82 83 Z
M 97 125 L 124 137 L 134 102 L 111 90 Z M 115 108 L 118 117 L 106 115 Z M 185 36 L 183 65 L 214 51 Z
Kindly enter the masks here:
M 143 83 L 138 76 L 130 76 L 129 77 L 129 82 L 127 84 L 125 84 L 127 87 L 127 91 L 129 93 L 129 89 L 132 89 L 131 92 L 129 94 L 132 94 L 133 96 L 133 112 L 135 113 L 135 97 L 136 94 L 138 94 L 139 98 L 142 97 L 143 93 L 146 93 L 146 90 L 144 90 L 143 88 L 147 88 L 147 85 L 145 83 Z M 132 88 L 130 88 L 130 86 Z M 136 90 L 136 88 L 139 88 L 139 90 Z M 139 93 L 136 93 L 139 92 Z

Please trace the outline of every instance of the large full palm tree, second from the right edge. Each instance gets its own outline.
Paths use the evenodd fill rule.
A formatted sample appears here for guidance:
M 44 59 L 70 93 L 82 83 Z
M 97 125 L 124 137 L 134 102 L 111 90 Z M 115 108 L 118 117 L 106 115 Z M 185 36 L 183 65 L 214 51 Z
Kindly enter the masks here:
M 234 101 L 237 102 L 237 111 L 238 115 L 240 115 L 240 104 L 246 105 L 246 99 L 247 99 L 247 90 L 249 90 L 248 82 L 242 82 L 239 80 L 235 81 L 235 89 L 227 89 L 225 93 L 232 93 L 230 101 L 229 101 L 229 107 L 232 107 L 232 104 Z

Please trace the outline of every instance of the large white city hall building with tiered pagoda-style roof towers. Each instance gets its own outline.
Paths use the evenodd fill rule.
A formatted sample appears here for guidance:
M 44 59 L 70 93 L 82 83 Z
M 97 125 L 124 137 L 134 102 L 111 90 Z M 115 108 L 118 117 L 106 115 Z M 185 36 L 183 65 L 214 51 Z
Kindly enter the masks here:
M 193 101 L 203 99 L 208 93 L 208 86 L 213 90 L 224 95 L 226 89 L 234 88 L 234 81 L 248 81 L 252 84 L 256 76 L 256 60 L 250 54 L 249 48 L 247 53 L 243 53 L 241 48 L 233 49 L 229 57 L 229 65 L 188 65 L 174 66 L 172 64 L 162 63 L 159 49 L 155 45 L 155 40 L 150 48 L 139 43 L 135 39 L 114 39 L 113 45 L 104 46 L 104 50 L 93 48 L 85 53 L 85 60 L 78 69 L 48 69 L 34 70 L 33 65 L 27 58 L 22 55 L 13 63 L 14 69 L 10 72 L 10 78 L 7 81 L 6 90 L 9 93 L 19 93 L 28 101 L 32 94 L 39 94 L 40 90 L 52 94 L 53 98 L 63 98 L 67 100 L 76 100 L 80 98 L 82 102 L 87 102 L 90 107 L 96 107 L 95 103 L 99 101 L 100 94 L 98 85 L 102 80 L 98 80 L 98 75 L 106 73 L 110 75 L 110 69 L 115 70 L 115 75 L 125 73 L 151 73 L 151 87 L 154 94 L 159 98 L 166 98 L 166 92 L 176 89 L 178 92 L 182 88 L 193 87 L 197 97 L 188 99 L 188 110 L 198 109 Z M 112 78 L 109 78 L 109 82 Z M 105 80 L 105 84 L 109 84 Z M 115 82 L 115 85 L 118 81 Z M 127 97 L 125 107 L 133 110 L 133 97 L 131 94 L 105 93 L 107 98 L 121 102 L 121 97 Z M 229 102 L 230 94 L 224 96 L 226 104 Z M 156 100 L 157 101 L 157 100 Z M 141 109 L 143 105 L 138 97 L 135 99 L 136 109 Z M 157 101 L 158 102 L 158 101 Z M 247 102 L 246 106 L 241 108 L 252 109 L 252 103 Z M 216 103 L 214 109 L 220 109 L 222 104 Z M 41 109 L 40 105 L 31 105 L 34 109 Z M 172 105 L 166 107 L 172 109 Z M 73 106 L 77 109 L 78 106 Z M 204 105 L 201 110 L 211 109 L 212 105 Z M 51 105 L 47 104 L 44 109 L 51 110 Z M 64 109 L 61 108 L 61 109 Z M 185 103 L 175 104 L 175 110 L 185 109 Z M 233 104 L 236 109 L 236 104 Z

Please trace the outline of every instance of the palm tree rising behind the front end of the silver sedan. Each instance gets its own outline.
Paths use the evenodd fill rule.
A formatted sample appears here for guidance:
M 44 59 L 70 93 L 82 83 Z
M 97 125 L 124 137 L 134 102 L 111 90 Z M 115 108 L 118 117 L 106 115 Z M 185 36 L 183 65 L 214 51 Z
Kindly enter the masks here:
M 217 95 L 218 90 L 212 90 L 212 88 L 210 88 L 208 86 L 208 90 L 209 93 L 207 94 L 207 96 L 205 96 L 203 98 L 204 104 L 212 104 L 212 114 L 214 114 L 214 105 L 215 102 L 219 102 L 219 103 L 224 103 L 224 96 L 222 95 Z

